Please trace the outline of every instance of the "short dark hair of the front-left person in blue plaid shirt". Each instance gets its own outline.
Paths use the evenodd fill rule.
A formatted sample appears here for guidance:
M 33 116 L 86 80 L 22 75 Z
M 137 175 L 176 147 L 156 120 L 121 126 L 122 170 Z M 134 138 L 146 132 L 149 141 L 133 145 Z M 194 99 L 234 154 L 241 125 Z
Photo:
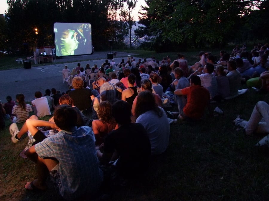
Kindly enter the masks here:
M 59 105 L 54 111 L 54 122 L 61 130 L 70 131 L 77 124 L 77 111 L 70 105 Z

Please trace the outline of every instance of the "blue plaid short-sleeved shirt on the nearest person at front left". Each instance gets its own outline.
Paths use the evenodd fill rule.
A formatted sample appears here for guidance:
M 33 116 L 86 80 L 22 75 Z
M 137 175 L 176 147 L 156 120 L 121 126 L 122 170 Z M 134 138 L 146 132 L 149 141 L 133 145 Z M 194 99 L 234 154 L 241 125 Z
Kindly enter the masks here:
M 96 191 L 103 180 L 95 150 L 94 133 L 88 126 L 72 132 L 61 131 L 35 145 L 40 158 L 59 161 L 59 193 L 66 200 L 76 200 Z

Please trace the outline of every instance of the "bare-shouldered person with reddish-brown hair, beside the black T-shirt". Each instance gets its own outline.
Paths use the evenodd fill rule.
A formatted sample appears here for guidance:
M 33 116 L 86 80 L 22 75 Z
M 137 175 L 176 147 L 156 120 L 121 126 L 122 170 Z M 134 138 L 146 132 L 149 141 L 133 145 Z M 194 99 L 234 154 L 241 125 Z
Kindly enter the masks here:
M 92 130 L 95 136 L 95 144 L 100 145 L 104 142 L 107 134 L 113 129 L 116 129 L 116 121 L 112 116 L 112 104 L 108 101 L 103 101 L 99 105 L 99 119 L 92 121 Z

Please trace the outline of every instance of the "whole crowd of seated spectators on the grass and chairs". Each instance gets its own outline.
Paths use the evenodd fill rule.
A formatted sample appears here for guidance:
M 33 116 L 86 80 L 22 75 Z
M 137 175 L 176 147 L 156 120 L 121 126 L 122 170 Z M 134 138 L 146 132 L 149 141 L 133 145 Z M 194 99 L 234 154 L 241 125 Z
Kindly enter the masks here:
M 262 56 L 254 53 L 253 56 L 259 57 L 254 58 L 259 64 L 248 68 L 257 70 L 263 91 L 269 90 L 266 51 Z M 7 103 L 0 109 L 3 116 L 6 108 L 13 122 L 9 129 L 11 139 L 16 143 L 28 131 L 30 144 L 23 154 L 37 164 L 38 179 L 28 182 L 25 188 L 46 190 L 45 173 L 50 172 L 59 194 L 64 199 L 74 200 L 94 194 L 109 176 L 117 181 L 143 177 L 151 155 L 162 154 L 169 145 L 167 115 L 180 120 L 201 119 L 205 110 L 211 113 L 210 101 L 220 101 L 238 93 L 243 72 L 247 71 L 242 70 L 242 63 L 252 65 L 244 46 L 238 55 L 241 60 L 224 50 L 220 52 L 219 60 L 210 52 L 200 52 L 198 56 L 200 60 L 191 67 L 187 66 L 182 54 L 173 62 L 167 56 L 160 64 L 155 58 L 145 58 L 139 63 L 140 60 L 138 65 L 131 57 L 127 62 L 123 59 L 118 65 L 123 76 L 120 79 L 117 79 L 120 73 L 113 73 L 111 78 L 100 76 L 89 89 L 83 87 L 83 79 L 77 76 L 67 94 L 57 93 L 55 88 L 51 90 L 52 96 L 48 89 L 44 97 L 41 92 L 36 92 L 32 104 L 42 104 L 36 107 L 33 116 L 29 116 L 32 107 L 25 103 L 23 94 L 17 94 L 17 105 L 8 96 Z M 112 71 L 116 69 L 106 61 L 99 74 L 105 73 L 106 67 Z M 78 71 L 82 72 L 80 69 Z M 95 69 L 92 71 L 98 76 Z M 166 114 L 161 107 L 164 92 L 173 96 L 178 111 Z M 266 116 L 259 108 L 268 108 L 268 105 L 258 103 L 255 108 L 258 110 L 253 110 L 255 115 L 260 112 Z M 83 115 L 88 109 L 96 112 L 94 119 L 89 120 Z M 53 110 L 54 116 L 49 121 L 39 120 L 39 117 L 51 115 L 46 112 Z M 248 130 L 252 119 L 247 122 L 238 117 L 235 123 Z M 251 124 L 250 134 L 260 125 L 261 119 L 256 119 L 258 123 Z M 16 123 L 20 122 L 25 123 L 19 130 Z

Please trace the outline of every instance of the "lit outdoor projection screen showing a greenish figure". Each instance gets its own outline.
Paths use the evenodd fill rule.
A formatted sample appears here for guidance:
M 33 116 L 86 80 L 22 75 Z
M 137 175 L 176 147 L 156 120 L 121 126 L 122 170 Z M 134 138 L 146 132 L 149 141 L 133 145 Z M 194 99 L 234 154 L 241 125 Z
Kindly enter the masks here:
M 91 54 L 91 24 L 54 23 L 56 56 Z

